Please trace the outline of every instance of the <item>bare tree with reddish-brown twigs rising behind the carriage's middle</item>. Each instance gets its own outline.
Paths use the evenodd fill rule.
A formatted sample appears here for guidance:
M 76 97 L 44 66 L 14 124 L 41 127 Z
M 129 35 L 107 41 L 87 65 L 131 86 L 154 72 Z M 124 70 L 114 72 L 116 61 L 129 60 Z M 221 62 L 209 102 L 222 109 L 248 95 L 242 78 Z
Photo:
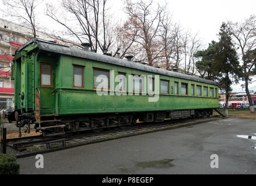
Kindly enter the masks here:
M 140 56 L 139 61 L 146 60 L 150 66 L 153 66 L 156 59 L 159 58 L 159 40 L 157 33 L 159 32 L 160 22 L 163 19 L 164 6 L 158 4 L 157 10 L 153 10 L 153 1 L 150 2 L 132 2 L 127 0 L 125 13 L 129 19 L 133 19 L 134 27 L 138 28 L 136 42 L 141 45 L 145 56 Z

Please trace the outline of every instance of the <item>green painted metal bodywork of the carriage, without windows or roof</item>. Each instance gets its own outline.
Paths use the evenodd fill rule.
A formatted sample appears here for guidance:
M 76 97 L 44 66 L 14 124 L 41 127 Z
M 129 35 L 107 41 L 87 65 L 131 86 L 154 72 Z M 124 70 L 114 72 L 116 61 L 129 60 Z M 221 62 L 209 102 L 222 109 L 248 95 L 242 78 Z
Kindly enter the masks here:
M 16 59 L 15 61 L 15 108 L 19 108 L 20 104 L 18 93 L 26 92 L 24 105 L 27 109 L 34 109 L 34 88 L 36 87 L 40 88 L 41 91 L 41 114 L 72 115 L 78 113 L 142 112 L 219 107 L 219 98 L 218 95 L 215 95 L 215 91 L 214 98 L 191 96 L 191 84 L 195 85 L 195 90 L 197 85 L 201 85 L 202 95 L 204 95 L 204 86 L 208 87 L 208 95 L 209 87 L 218 88 L 218 86 L 164 75 L 160 75 L 160 79 L 169 80 L 170 94 L 160 95 L 157 102 L 149 102 L 148 95 L 99 96 L 93 88 L 94 68 L 114 70 L 115 76 L 118 75 L 118 72 L 126 73 L 127 81 L 128 75 L 131 74 L 152 75 L 153 77 L 157 74 L 68 55 L 36 51 L 33 47 L 32 49 L 34 57 L 27 58 L 24 54 L 24 59 L 21 61 Z M 52 87 L 50 88 L 40 87 L 40 62 L 52 64 Z M 73 88 L 73 65 L 84 67 L 83 88 Z M 179 95 L 174 95 L 174 82 L 178 82 Z M 181 95 L 181 83 L 188 84 L 188 96 Z M 114 86 L 117 86 L 117 84 L 118 82 L 115 82 Z M 128 90 L 128 82 L 126 82 L 126 85 Z M 148 90 L 148 87 L 146 87 L 146 90 Z

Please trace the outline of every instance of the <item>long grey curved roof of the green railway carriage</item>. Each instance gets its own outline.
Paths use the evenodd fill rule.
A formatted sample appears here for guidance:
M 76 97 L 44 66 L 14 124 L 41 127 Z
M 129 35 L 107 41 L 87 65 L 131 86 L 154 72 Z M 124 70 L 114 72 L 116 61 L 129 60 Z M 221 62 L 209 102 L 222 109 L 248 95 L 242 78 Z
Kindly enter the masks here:
M 97 60 L 97 61 L 103 62 L 103 63 L 110 63 L 113 65 L 124 66 L 124 67 L 128 67 L 131 69 L 137 69 L 137 70 L 149 71 L 149 72 L 157 73 L 157 74 L 163 74 L 165 76 L 183 78 L 185 80 L 198 81 L 201 83 L 218 85 L 218 83 L 216 83 L 215 81 L 206 80 L 204 78 L 199 78 L 199 77 L 190 76 L 187 74 L 177 73 L 174 71 L 159 69 L 159 68 L 148 66 L 148 65 L 142 65 L 141 63 L 135 63 L 135 62 L 128 61 L 128 60 L 123 60 L 123 59 L 115 58 L 112 56 L 103 55 L 100 53 L 85 51 L 83 49 L 79 49 L 79 48 L 75 48 L 75 47 L 67 47 L 65 45 L 56 44 L 54 42 L 45 41 L 45 40 L 41 40 L 38 38 L 32 38 L 31 40 L 27 41 L 25 44 L 23 44 L 20 48 L 17 49 L 17 51 L 15 52 L 15 55 L 17 53 L 19 53 L 20 51 L 22 51 L 22 49 L 27 47 L 27 45 L 30 45 L 34 42 L 37 44 L 37 47 L 43 51 L 61 53 L 64 55 L 76 56 L 78 58 Z

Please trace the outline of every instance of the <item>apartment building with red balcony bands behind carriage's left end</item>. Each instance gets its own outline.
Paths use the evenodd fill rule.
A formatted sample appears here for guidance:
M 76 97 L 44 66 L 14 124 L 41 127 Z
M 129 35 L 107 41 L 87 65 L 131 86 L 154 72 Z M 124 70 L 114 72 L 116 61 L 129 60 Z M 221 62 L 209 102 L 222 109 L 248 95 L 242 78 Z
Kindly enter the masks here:
M 0 19 L 0 110 L 14 106 L 14 81 L 10 80 L 13 55 L 16 49 L 32 37 L 30 28 Z M 78 45 L 40 31 L 37 31 L 37 38 L 69 46 Z

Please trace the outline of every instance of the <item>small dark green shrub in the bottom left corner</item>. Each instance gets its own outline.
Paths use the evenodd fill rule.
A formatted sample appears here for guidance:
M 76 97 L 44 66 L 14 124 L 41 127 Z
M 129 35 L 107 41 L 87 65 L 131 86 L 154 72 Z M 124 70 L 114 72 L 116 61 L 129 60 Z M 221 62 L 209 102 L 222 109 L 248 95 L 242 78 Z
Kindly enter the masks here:
M 13 155 L 0 155 L 0 174 L 19 174 L 19 163 Z

